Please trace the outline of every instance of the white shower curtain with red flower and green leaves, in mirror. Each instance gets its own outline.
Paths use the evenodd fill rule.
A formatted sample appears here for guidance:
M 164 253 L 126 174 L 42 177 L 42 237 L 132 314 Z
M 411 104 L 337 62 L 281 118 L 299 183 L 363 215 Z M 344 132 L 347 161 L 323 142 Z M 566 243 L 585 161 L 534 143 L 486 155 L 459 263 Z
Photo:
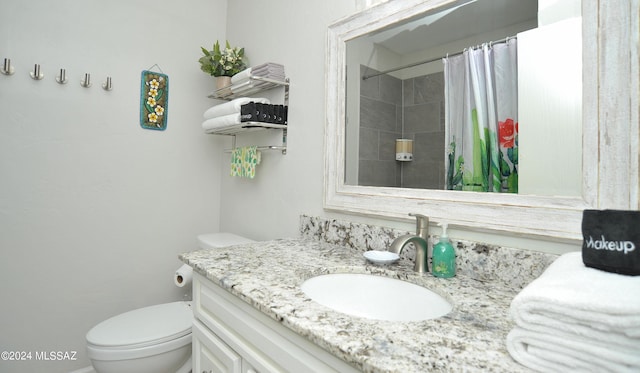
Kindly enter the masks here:
M 446 188 L 518 192 L 516 39 L 444 61 Z

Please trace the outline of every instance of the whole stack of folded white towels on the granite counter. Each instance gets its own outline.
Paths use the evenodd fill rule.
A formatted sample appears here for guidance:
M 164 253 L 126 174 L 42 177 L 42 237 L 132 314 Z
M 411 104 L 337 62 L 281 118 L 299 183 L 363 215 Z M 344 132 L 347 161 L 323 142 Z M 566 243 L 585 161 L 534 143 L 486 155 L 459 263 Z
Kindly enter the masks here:
M 507 349 L 537 371 L 640 371 L 640 277 L 560 256 L 511 303 Z

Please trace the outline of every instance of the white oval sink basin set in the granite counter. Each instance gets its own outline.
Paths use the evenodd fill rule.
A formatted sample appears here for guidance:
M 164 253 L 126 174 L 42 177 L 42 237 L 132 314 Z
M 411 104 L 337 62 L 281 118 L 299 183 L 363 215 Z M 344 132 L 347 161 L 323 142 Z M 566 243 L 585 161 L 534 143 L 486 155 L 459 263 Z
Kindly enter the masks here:
M 335 273 L 302 283 L 314 301 L 338 312 L 375 320 L 420 321 L 451 312 L 452 305 L 433 291 L 388 277 Z

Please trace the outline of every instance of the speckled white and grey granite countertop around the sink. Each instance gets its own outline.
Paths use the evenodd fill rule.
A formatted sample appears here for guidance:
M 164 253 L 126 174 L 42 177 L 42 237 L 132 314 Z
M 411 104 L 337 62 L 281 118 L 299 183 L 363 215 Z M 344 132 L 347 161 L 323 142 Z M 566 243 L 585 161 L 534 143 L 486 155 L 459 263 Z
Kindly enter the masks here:
M 413 262 L 368 263 L 362 252 L 308 238 L 198 250 L 180 259 L 243 301 L 365 372 L 528 371 L 507 352 L 509 305 L 519 289 L 499 281 L 417 274 Z M 345 315 L 300 285 L 326 273 L 371 273 L 428 287 L 453 304 L 434 320 L 391 322 Z M 401 312 L 401 311 L 400 311 Z

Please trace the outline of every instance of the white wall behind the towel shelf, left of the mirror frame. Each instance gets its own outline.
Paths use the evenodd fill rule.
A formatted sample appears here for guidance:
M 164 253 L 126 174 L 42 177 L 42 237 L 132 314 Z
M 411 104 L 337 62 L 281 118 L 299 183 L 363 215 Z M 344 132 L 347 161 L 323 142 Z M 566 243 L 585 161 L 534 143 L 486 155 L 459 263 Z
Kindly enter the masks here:
M 355 1 L 229 1 L 227 37 L 249 62 L 278 62 L 291 78 L 287 155 L 263 152 L 253 180 L 222 171 L 221 230 L 252 239 L 298 235 L 300 214 L 322 209 L 327 26 L 355 12 Z M 238 144 L 277 143 L 279 132 Z M 225 154 L 224 163 L 230 156 Z M 293 254 L 292 254 L 293 255 Z

